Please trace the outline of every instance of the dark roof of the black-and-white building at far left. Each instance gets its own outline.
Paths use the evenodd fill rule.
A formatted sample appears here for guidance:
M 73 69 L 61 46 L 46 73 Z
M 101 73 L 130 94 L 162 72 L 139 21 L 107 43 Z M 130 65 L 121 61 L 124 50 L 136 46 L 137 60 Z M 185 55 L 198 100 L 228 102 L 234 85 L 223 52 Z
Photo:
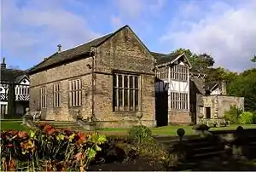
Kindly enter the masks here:
M 15 69 L 1 69 L 1 83 L 16 82 L 18 78 L 27 75 L 26 71 Z

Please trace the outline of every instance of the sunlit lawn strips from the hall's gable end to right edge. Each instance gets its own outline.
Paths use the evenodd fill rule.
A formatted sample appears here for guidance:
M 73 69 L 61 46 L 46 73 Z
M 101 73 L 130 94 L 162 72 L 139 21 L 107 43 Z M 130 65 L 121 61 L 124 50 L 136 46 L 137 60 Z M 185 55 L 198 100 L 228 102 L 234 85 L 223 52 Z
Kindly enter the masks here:
M 230 125 L 229 127 L 219 127 L 219 128 L 211 128 L 211 131 L 214 130 L 232 130 L 236 129 L 238 124 Z M 256 129 L 256 124 L 247 124 L 241 125 L 244 129 Z M 156 127 L 150 128 L 152 130 L 153 135 L 177 135 L 177 129 L 184 129 L 185 135 L 194 135 L 194 130 L 192 126 L 165 126 L 165 127 Z M 119 129 L 119 128 L 107 128 L 107 129 L 99 129 L 100 132 L 106 134 L 125 134 L 129 129 Z

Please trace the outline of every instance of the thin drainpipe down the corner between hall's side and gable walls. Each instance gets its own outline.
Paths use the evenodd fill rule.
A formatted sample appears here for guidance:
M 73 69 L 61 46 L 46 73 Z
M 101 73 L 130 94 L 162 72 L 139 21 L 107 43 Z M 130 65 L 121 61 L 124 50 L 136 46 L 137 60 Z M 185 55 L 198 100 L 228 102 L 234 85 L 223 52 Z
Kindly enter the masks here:
M 95 117 L 94 113 L 94 107 L 95 107 L 95 99 L 94 99 L 94 93 L 95 93 L 95 54 L 96 54 L 96 48 L 91 47 L 90 48 L 90 54 L 92 57 L 91 61 L 91 118 Z

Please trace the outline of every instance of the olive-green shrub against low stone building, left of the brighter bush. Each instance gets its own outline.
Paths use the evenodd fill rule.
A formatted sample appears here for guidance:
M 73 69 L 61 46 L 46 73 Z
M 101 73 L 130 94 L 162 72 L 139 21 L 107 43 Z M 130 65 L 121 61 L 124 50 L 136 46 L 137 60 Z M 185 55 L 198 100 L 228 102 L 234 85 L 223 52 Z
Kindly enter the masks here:
M 224 119 L 230 121 L 230 123 L 238 123 L 242 112 L 241 108 L 230 106 L 230 111 L 224 112 Z

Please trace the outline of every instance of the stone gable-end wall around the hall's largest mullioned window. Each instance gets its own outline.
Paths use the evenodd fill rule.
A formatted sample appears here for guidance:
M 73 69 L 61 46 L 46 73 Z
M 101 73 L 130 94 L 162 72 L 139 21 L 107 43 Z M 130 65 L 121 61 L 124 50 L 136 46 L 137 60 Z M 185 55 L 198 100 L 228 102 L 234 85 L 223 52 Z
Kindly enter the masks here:
M 96 49 L 95 114 L 102 127 L 127 127 L 142 122 L 155 125 L 154 57 L 125 28 Z M 113 70 L 135 72 L 141 77 L 141 112 L 113 112 Z

